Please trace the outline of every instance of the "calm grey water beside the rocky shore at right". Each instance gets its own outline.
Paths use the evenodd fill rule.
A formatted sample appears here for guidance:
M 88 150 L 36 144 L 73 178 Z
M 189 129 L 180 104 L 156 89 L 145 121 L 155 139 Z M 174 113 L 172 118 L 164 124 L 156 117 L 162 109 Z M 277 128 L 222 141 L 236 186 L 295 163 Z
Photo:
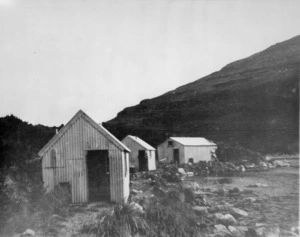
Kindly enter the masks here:
M 233 177 L 193 177 L 205 190 L 239 187 L 244 191 L 239 195 L 208 195 L 210 205 L 232 204 L 248 212 L 240 219 L 240 224 L 254 226 L 255 223 L 278 224 L 290 229 L 299 225 L 299 169 L 279 168 L 266 172 L 245 173 Z M 267 187 L 249 187 L 257 183 Z M 255 198 L 251 202 L 249 198 Z

